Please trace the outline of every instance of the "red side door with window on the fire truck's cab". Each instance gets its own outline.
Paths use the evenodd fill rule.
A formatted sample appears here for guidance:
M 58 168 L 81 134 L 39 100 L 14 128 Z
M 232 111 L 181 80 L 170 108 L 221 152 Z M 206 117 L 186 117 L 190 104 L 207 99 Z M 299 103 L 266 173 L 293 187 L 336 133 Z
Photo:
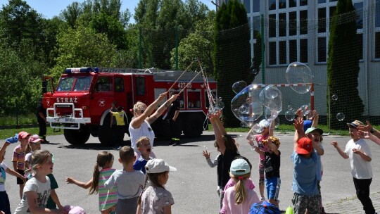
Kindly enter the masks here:
M 90 103 L 91 115 L 94 118 L 94 121 L 91 122 L 99 123 L 103 112 L 111 108 L 113 88 L 112 76 L 99 75 L 97 77 Z

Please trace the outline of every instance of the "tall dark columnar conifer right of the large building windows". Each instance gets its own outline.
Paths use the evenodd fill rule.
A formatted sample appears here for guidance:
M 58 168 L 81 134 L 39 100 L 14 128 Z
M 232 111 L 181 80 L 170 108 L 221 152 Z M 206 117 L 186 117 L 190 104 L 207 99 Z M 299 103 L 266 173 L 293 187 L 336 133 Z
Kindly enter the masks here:
M 330 24 L 329 58 L 327 60 L 327 84 L 332 94 L 338 96 L 331 101 L 331 128 L 347 128 L 346 122 L 335 120 L 337 113 L 344 113 L 346 121 L 360 120 L 364 111 L 357 90 L 360 52 L 356 40 L 356 15 L 351 0 L 338 0 L 336 12 Z M 350 103 L 348 105 L 348 103 Z

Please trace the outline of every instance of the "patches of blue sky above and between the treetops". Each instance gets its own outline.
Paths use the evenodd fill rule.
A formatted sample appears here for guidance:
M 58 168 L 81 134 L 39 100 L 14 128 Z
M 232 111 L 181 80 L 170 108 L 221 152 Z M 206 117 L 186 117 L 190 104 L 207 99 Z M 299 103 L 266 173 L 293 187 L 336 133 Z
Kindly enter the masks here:
M 63 9 L 65 9 L 72 2 L 71 0 L 25 0 L 31 8 L 37 11 L 37 13 L 42 13 L 44 18 L 53 18 L 54 15 L 59 15 Z M 77 2 L 82 3 L 84 0 L 77 0 Z M 210 0 L 198 0 L 203 4 L 207 5 L 211 10 L 215 10 L 215 5 L 211 3 Z M 129 9 L 132 14 L 131 22 L 134 23 L 133 15 L 134 8 L 137 7 L 139 0 L 122 0 L 122 11 L 125 8 Z M 8 0 L 0 0 L 0 6 L 8 4 Z

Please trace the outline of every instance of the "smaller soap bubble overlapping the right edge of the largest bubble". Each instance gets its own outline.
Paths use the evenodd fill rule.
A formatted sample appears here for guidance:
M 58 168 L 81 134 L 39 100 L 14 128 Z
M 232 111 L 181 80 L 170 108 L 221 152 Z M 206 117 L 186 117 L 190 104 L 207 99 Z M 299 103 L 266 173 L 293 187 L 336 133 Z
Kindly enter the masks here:
M 277 87 L 268 85 L 259 94 L 260 102 L 272 112 L 280 113 L 282 110 L 282 95 Z

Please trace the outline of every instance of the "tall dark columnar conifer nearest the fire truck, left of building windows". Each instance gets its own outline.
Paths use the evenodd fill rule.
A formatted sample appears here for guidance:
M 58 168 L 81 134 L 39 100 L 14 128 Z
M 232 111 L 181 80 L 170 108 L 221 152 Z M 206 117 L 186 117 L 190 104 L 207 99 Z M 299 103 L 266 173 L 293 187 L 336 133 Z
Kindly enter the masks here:
M 246 8 L 239 1 L 228 1 L 217 11 L 215 22 L 214 75 L 218 94 L 226 108 L 223 110 L 224 125 L 236 127 L 240 121 L 234 117 L 231 100 L 232 84 L 247 80 L 251 66 L 250 30 Z

